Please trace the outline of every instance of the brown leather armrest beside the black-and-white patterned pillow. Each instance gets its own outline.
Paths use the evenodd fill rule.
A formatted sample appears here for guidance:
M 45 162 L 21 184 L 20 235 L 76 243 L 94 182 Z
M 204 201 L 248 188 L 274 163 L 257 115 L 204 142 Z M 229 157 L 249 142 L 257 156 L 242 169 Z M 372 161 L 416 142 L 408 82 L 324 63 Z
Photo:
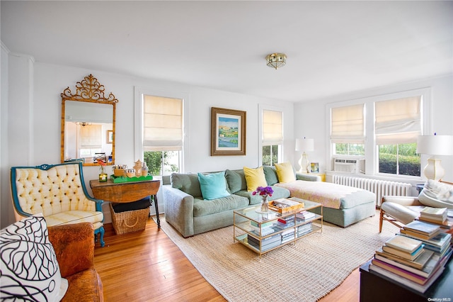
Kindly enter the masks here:
M 55 225 L 47 230 L 63 278 L 94 267 L 92 223 Z

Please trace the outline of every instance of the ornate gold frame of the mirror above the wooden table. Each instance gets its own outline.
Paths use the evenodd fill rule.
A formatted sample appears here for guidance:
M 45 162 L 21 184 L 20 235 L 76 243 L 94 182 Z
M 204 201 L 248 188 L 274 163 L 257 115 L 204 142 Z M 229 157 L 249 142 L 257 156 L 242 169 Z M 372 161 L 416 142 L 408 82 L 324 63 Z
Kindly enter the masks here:
M 113 106 L 113 117 L 112 117 L 112 130 L 113 130 L 113 142 L 112 142 L 112 162 L 107 162 L 108 165 L 115 164 L 115 109 L 118 100 L 110 92 L 107 98 L 104 96 L 104 85 L 98 82 L 96 77 L 89 74 L 81 82 L 76 83 L 76 93 L 72 94 L 69 86 L 64 89 L 62 96 L 62 141 L 61 141 L 61 162 L 64 162 L 64 123 L 65 123 L 65 105 L 66 101 L 82 101 L 88 103 L 97 104 L 108 104 Z M 97 166 L 96 162 L 84 162 L 84 166 Z

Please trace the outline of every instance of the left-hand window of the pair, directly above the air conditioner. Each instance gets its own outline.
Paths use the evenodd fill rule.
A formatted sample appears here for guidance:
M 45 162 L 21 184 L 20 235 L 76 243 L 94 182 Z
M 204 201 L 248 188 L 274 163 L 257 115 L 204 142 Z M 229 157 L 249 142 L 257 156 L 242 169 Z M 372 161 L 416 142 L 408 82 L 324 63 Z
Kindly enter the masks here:
M 364 104 L 332 108 L 331 141 L 335 155 L 365 155 Z

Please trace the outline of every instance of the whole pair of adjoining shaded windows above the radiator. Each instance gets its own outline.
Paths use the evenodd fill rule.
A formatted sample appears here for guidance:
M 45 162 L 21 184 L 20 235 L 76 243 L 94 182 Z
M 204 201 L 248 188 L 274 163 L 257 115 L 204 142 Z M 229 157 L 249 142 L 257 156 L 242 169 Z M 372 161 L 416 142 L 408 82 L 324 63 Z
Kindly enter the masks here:
M 365 157 L 369 175 L 420 177 L 417 137 L 430 133 L 430 89 L 416 89 L 327 106 L 331 156 Z

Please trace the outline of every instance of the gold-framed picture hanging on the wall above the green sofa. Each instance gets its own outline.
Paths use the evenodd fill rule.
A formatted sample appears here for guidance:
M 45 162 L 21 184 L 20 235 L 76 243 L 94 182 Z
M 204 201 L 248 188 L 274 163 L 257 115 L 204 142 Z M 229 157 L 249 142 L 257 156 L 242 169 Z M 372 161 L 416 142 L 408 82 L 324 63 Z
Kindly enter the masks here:
M 246 111 L 211 108 L 211 156 L 246 155 Z

